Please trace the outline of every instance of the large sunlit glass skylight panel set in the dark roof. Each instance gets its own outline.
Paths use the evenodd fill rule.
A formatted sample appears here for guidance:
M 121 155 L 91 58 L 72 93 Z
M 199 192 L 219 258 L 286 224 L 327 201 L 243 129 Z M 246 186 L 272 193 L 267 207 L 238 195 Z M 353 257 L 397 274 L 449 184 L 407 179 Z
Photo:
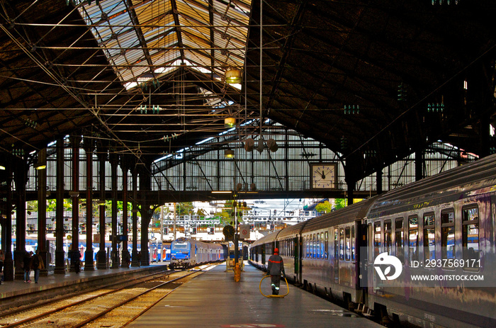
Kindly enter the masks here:
M 181 62 L 220 77 L 228 67 L 242 68 L 251 6 L 251 0 L 102 0 L 81 1 L 78 10 L 114 72 L 132 87 Z

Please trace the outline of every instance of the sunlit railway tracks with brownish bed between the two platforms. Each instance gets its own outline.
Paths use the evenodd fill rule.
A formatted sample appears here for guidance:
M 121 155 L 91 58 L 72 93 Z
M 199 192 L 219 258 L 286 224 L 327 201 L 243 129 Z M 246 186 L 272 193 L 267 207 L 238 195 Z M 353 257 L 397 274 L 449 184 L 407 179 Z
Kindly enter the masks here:
M 167 271 L 120 288 L 106 286 L 24 307 L 3 313 L 0 327 L 124 327 L 182 283 L 210 268 L 213 266 L 200 266 L 191 271 Z

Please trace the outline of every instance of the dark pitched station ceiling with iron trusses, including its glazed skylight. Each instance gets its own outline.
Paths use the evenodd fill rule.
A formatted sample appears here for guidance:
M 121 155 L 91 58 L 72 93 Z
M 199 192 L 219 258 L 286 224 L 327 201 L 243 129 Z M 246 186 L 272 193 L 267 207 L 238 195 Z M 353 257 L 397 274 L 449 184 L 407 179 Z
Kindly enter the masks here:
M 3 154 L 81 133 L 152 161 L 227 117 L 318 140 L 356 179 L 437 140 L 492 145 L 495 1 L 0 3 Z

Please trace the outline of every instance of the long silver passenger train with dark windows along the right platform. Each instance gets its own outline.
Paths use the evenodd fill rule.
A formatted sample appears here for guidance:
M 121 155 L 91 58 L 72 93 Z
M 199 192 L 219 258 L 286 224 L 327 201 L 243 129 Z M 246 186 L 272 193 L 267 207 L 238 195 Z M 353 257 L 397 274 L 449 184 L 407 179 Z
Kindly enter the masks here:
M 397 326 L 496 327 L 496 155 L 254 242 L 266 269 Z M 397 274 L 398 273 L 398 274 Z

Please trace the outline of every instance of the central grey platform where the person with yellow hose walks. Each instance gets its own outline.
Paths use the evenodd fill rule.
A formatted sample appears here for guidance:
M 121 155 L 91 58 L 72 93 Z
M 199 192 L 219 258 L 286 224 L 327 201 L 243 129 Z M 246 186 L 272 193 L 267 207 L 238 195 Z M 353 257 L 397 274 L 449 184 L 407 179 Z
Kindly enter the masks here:
M 247 264 L 235 282 L 232 271 L 220 264 L 181 285 L 127 327 L 383 327 L 293 285 L 285 298 L 266 298 L 259 291 L 263 276 Z M 269 278 L 263 283 L 270 291 Z

